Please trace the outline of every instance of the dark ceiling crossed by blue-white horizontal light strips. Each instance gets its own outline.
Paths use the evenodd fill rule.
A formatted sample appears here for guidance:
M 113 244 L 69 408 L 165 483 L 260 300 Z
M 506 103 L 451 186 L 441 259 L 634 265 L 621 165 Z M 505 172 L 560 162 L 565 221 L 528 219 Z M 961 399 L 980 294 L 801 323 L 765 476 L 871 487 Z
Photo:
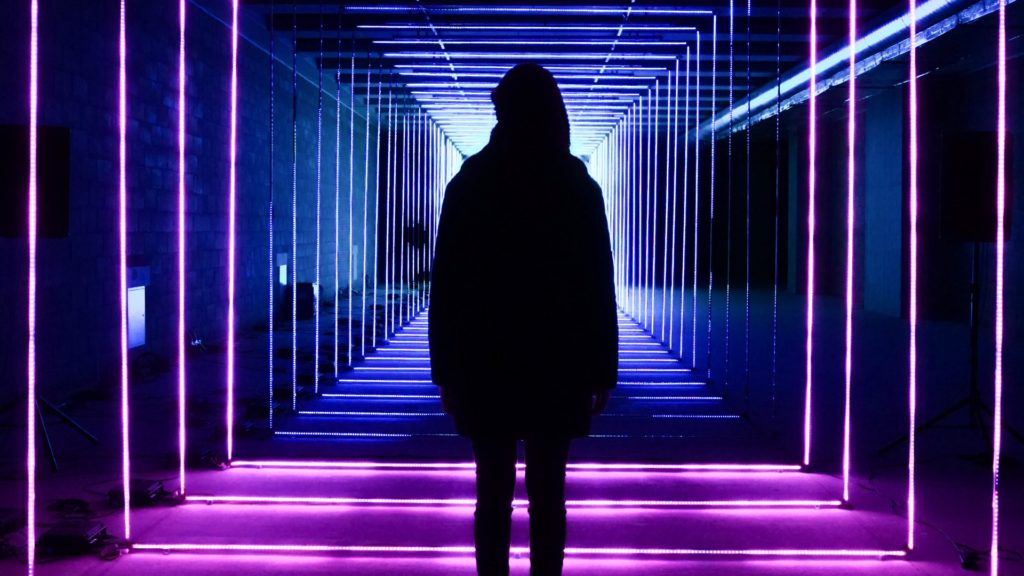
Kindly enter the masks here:
M 806 0 L 750 4 L 724 0 L 694 4 L 244 0 L 244 4 L 288 40 L 286 50 L 291 49 L 294 33 L 298 50 L 322 63 L 325 70 L 340 69 L 346 76 L 354 55 L 357 94 L 367 88 L 369 68 L 371 100 L 379 82 L 384 93 L 390 88 L 411 94 L 413 98 L 404 101 L 425 108 L 457 140 L 460 129 L 451 121 L 446 125 L 440 108 L 446 107 L 462 124 L 476 115 L 485 128 L 489 88 L 514 64 L 539 61 L 559 77 L 573 134 L 581 138 L 574 140 L 580 152 L 599 139 L 630 107 L 647 106 L 648 91 L 653 97 L 655 85 L 663 111 L 656 117 L 668 121 L 664 111 L 671 96 L 666 87 L 676 81 L 677 60 L 681 90 L 685 86 L 687 50 L 690 110 L 701 119 L 728 106 L 730 80 L 732 101 L 739 100 L 751 87 L 771 85 L 780 72 L 802 66 L 809 51 Z M 858 0 L 857 4 L 858 24 L 865 27 L 903 9 L 891 0 Z M 848 10 L 847 2 L 818 3 L 819 47 L 845 42 Z M 712 42 L 715 35 L 717 45 Z M 699 109 L 695 108 L 698 76 Z M 467 152 L 465 148 L 472 147 L 460 148 Z

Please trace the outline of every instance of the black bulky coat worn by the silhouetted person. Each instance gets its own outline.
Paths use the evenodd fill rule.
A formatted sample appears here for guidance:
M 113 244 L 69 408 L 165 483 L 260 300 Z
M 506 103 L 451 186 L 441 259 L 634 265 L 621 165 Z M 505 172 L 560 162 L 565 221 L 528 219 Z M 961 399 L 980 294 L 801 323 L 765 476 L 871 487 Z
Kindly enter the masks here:
M 466 437 L 590 430 L 618 333 L 601 189 L 567 151 L 502 137 L 449 183 L 430 288 L 430 361 Z

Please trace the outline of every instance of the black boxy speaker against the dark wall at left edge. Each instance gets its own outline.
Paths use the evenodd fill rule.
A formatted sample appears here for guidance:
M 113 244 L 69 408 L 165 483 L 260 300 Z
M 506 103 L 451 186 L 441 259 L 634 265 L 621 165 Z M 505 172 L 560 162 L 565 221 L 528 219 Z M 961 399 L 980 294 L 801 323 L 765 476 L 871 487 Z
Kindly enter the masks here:
M 40 126 L 38 132 L 37 232 L 68 236 L 71 129 Z M 29 127 L 0 125 L 0 237 L 29 234 Z

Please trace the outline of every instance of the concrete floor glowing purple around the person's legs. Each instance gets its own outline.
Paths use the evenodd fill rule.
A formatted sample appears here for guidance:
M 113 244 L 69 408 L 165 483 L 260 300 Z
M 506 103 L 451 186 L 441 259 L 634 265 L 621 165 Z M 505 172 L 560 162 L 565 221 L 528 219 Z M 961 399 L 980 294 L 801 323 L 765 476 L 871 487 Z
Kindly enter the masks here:
M 711 427 L 680 423 L 680 430 L 693 431 L 691 439 L 634 440 L 628 442 L 588 441 L 581 444 L 577 457 L 594 459 L 602 451 L 622 458 L 623 453 L 640 454 L 638 459 L 675 461 L 683 454 L 694 460 L 726 458 L 754 461 L 761 455 L 770 461 L 785 458 L 796 461 L 799 454 L 799 403 L 802 383 L 802 348 L 799 330 L 786 330 L 800 319 L 800 301 L 784 298 L 780 307 L 779 372 L 774 390 L 778 410 L 772 414 L 771 392 L 764 385 L 766 367 L 765 326 L 768 311 L 765 294 L 756 294 L 752 308 L 752 376 L 748 402 L 740 400 L 745 377 L 742 366 L 742 341 L 733 338 L 732 366 L 729 378 L 724 377 L 721 349 L 714 349 L 713 379 L 708 390 L 726 396 L 721 406 L 712 407 L 718 413 L 742 412 L 742 422 Z M 655 306 L 655 310 L 657 306 Z M 720 310 L 720 308 L 719 308 Z M 737 311 L 739 308 L 736 308 Z M 836 408 L 841 386 L 837 385 L 835 358 L 837 332 L 841 324 L 836 302 L 825 300 L 818 313 L 823 327 L 816 376 L 816 418 L 814 460 L 817 465 L 802 472 L 672 472 L 672 474 L 571 474 L 568 497 L 574 499 L 644 499 L 716 501 L 728 499 L 835 499 L 840 494 L 836 451 L 839 428 Z M 703 314 L 702 311 L 700 314 Z M 718 313 L 716 313 L 718 314 Z M 741 312 L 739 313 L 741 314 Z M 733 330 L 738 330 L 734 316 Z M 786 319 L 793 320 L 793 324 Z M 642 548 L 870 548 L 900 549 L 904 542 L 905 520 L 905 448 L 887 455 L 877 450 L 895 438 L 905 422 L 905 379 L 899 367 L 902 334 L 898 321 L 859 318 L 862 326 L 858 364 L 860 382 L 854 397 L 854 477 L 851 501 L 853 509 L 797 508 L 723 509 L 716 505 L 624 506 L 616 508 L 571 507 L 569 512 L 570 547 L 642 547 Z M 701 319 L 701 324 L 703 320 Z M 652 326 L 655 333 L 658 324 Z M 716 330 L 721 325 L 716 323 Z M 925 326 L 922 341 L 922 410 L 931 414 L 953 400 L 959 388 L 950 384 L 963 377 L 963 363 L 950 360 L 962 330 L 955 326 Z M 741 333 L 741 332 L 739 332 Z M 304 339 L 311 340 L 307 330 Z M 287 339 L 282 333 L 280 340 Z M 696 339 L 698 360 L 707 355 L 703 338 Z M 269 439 L 261 431 L 265 419 L 266 395 L 265 333 L 246 330 L 239 346 L 239 449 L 245 457 L 321 455 L 337 457 L 379 454 L 401 459 L 410 449 L 418 449 L 421 459 L 446 454 L 458 458 L 468 454 L 461 439 L 430 441 L 420 439 L 409 445 L 398 443 L 296 441 Z M 302 349 L 300 343 L 300 349 Z M 905 345 L 905 344 L 904 344 Z M 309 342 L 311 349 L 311 341 Z M 306 351 L 309 352 L 309 351 Z M 1016 353 L 1015 353 L 1016 354 Z M 290 358 L 290 353 L 286 356 Z M 958 357 L 957 357 L 958 358 Z M 1009 366 L 1018 359 L 1012 359 Z M 303 365 L 311 366 L 311 354 L 303 355 Z M 700 364 L 698 362 L 698 364 Z M 282 368 L 284 366 L 284 368 Z M 738 370 L 737 370 L 738 366 Z M 190 360 L 189 373 L 189 446 L 191 457 L 200 460 L 202 448 L 214 452 L 222 445 L 222 358 L 216 351 L 197 355 Z M 290 389 L 290 361 L 279 362 L 279 388 L 287 398 Z M 717 377 L 715 377 L 717 376 Z M 726 385 L 728 380 L 728 385 Z M 879 382 L 892 382 L 879 385 Z M 760 382 L 760 383 L 759 383 Z M 625 388 L 624 388 L 625 389 Z M 1013 389 L 1013 388 L 1012 388 Z M 60 457 L 61 470 L 52 472 L 41 460 L 40 507 L 60 497 L 81 497 L 98 510 L 111 533 L 123 533 L 123 520 L 116 509 L 103 503 L 102 494 L 118 484 L 118 429 L 116 425 L 116 395 L 109 387 L 96 386 L 87 395 L 67 402 L 66 407 L 101 440 L 92 446 L 62 424 L 51 420 L 54 445 Z M 138 475 L 165 481 L 169 488 L 177 485 L 175 475 L 175 439 L 173 435 L 173 382 L 169 374 L 139 381 L 133 386 L 133 466 Z M 725 394 L 723 395 L 723 390 Z M 731 394 L 730 394 L 731 390 Z M 1008 413 L 1019 414 L 1015 396 L 1008 397 Z M 1019 394 L 1019 393 L 1016 393 Z M 279 395 L 280 396 L 280 395 Z M 309 406 L 323 403 L 308 399 Z M 628 410 L 620 401 L 615 411 Z M 287 404 L 287 402 L 286 402 Z M 635 405 L 632 405 L 635 406 Z M 423 407 L 430 409 L 428 406 Z M 707 404 L 695 410 L 707 411 Z M 680 408 L 683 410 L 683 408 Z M 1016 410 L 1016 412 L 1014 412 Z M 1013 416 L 1017 418 L 1017 416 Z M 287 420 L 282 420 L 287 421 Z M 307 420 L 308 422 L 308 420 Z M 967 430 L 963 415 L 930 430 L 919 438 L 919 526 L 916 549 L 905 560 L 828 559 L 743 559 L 736 557 L 625 556 L 615 559 L 570 554 L 566 574 L 959 574 L 957 548 L 986 550 L 988 546 L 990 462 L 984 457 L 984 443 Z M 24 446 L 24 428 L 13 419 L 4 419 L 0 441 L 7 446 Z M 311 426 L 328 425 L 322 420 Z M 386 426 L 387 423 L 373 425 Z M 408 425 L 404 423 L 396 425 Z M 443 426 L 443 419 L 429 426 Z M 609 424 L 612 425 L 612 424 Z M 620 426 L 622 424 L 614 423 Z M 718 426 L 718 427 L 715 427 Z M 643 424 L 627 428 L 643 429 Z M 426 428 L 424 428 L 426 429 Z M 431 428 L 433 429 L 433 428 Z M 441 429 L 441 428 L 436 428 Z M 416 448 L 419 447 L 419 448 Z M 753 448 L 756 448 L 753 449 Z M 1024 474 L 1019 446 L 1008 442 L 1005 459 L 1002 500 L 1002 543 L 1006 551 L 1001 573 L 1024 574 Z M 980 457 L 973 458 L 980 454 Z M 42 458 L 42 456 L 41 456 Z M 684 458 L 684 459 L 686 459 Z M 16 459 L 13 461 L 17 461 Z M 260 470 L 232 468 L 226 471 L 204 469 L 194 462 L 189 472 L 191 495 L 265 495 L 292 497 L 390 498 L 420 497 L 440 499 L 472 498 L 470 472 L 408 472 L 408 471 L 308 471 Z M 521 482 L 521 481 L 520 481 Z M 3 466 L 0 478 L 0 504 L 17 505 L 24 484 L 14 466 Z M 521 487 L 520 487 L 521 490 Z M 43 525 L 57 520 L 56 515 L 43 510 Z M 328 504 L 238 504 L 189 503 L 177 507 L 153 507 L 133 513 L 133 540 L 163 543 L 195 541 L 202 543 L 331 543 L 334 545 L 444 545 L 471 544 L 472 509 L 466 505 L 406 505 L 366 503 Z M 513 543 L 525 544 L 525 512 L 514 515 Z M 24 534 L 14 535 L 9 543 L 24 544 Z M 514 558 L 514 574 L 528 573 L 528 560 Z M 987 561 L 982 561 L 987 568 Z M 23 574 L 24 565 L 15 559 L 0 560 L 0 574 Z M 262 574 L 472 574 L 473 564 L 465 553 L 381 553 L 308 552 L 279 553 L 184 553 L 134 551 L 115 562 L 94 557 L 59 560 L 43 564 L 38 574 L 120 575 L 146 574 L 175 576 L 199 574 L 250 573 Z

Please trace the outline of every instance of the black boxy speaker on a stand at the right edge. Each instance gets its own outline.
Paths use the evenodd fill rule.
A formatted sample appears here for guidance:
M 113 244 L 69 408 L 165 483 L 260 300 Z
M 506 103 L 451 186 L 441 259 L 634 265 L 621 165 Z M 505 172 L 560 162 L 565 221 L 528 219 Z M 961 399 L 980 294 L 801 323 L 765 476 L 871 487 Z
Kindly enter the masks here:
M 1013 223 L 1013 138 L 1007 134 L 1007 238 Z M 942 139 L 942 238 L 995 242 L 995 132 L 947 133 Z

